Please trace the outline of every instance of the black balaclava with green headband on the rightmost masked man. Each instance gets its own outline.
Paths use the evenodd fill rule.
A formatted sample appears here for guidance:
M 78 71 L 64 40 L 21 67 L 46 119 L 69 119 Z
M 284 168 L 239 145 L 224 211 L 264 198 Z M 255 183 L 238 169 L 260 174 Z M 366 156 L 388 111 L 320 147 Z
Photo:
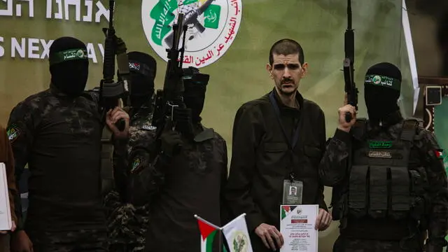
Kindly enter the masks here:
M 377 125 L 399 110 L 401 71 L 397 66 L 381 62 L 365 73 L 364 98 L 372 124 Z

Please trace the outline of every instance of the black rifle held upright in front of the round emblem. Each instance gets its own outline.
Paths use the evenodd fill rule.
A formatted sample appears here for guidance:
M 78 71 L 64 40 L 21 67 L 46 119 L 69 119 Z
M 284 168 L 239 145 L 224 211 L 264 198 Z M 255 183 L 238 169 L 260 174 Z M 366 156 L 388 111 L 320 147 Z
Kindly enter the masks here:
M 187 25 L 183 20 L 183 13 L 179 13 L 177 23 L 173 25 L 174 40 L 172 47 L 167 49 L 168 62 L 165 73 L 163 90 L 158 90 L 155 97 L 153 125 L 157 127 L 157 139 L 165 127 L 176 127 L 175 109 L 186 109 L 183 103 L 183 52 L 185 51 L 185 38 Z M 183 34 L 182 48 L 179 49 L 181 35 Z M 180 57 L 180 60 L 179 60 Z M 168 124 L 168 125 L 167 125 Z

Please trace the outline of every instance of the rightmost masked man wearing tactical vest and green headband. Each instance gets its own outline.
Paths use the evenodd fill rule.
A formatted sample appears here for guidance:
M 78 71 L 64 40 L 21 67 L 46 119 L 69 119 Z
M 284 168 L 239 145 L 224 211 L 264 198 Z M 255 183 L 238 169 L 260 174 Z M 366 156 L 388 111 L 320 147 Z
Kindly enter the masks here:
M 382 62 L 367 70 L 368 120 L 355 108 L 339 109 L 321 178 L 333 187 L 332 214 L 340 236 L 334 251 L 442 252 L 448 228 L 447 175 L 434 135 L 418 120 L 403 119 L 397 105 L 401 73 Z M 353 119 L 345 118 L 351 113 Z

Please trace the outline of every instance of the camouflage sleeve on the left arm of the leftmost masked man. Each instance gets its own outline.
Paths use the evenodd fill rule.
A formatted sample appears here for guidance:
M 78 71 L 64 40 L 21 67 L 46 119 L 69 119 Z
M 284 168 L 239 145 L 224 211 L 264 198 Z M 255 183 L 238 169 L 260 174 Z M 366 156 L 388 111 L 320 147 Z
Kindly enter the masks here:
M 22 202 L 20 200 L 20 177 L 27 165 L 29 151 L 34 139 L 34 125 L 36 116 L 31 106 L 21 102 L 13 108 L 8 120 L 8 138 L 13 149 L 15 161 L 15 184 L 18 187 L 18 193 L 15 195 L 15 215 L 18 218 L 17 230 L 23 229 Z

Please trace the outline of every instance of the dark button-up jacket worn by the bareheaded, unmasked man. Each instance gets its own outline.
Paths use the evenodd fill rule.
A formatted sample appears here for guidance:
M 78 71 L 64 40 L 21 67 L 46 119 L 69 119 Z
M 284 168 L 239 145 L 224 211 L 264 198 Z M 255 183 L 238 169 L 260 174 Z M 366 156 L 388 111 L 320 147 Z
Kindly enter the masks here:
M 318 204 L 327 210 L 318 176 L 325 148 L 323 111 L 299 92 L 300 109 L 285 106 L 279 99 L 273 90 L 247 102 L 237 111 L 233 127 L 225 198 L 232 216 L 246 213 L 254 251 L 269 251 L 254 230 L 261 223 L 279 230 L 283 180 L 291 175 L 303 182 L 302 204 Z

